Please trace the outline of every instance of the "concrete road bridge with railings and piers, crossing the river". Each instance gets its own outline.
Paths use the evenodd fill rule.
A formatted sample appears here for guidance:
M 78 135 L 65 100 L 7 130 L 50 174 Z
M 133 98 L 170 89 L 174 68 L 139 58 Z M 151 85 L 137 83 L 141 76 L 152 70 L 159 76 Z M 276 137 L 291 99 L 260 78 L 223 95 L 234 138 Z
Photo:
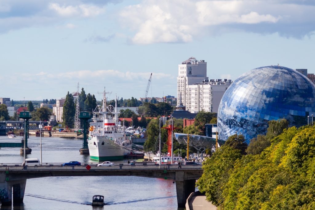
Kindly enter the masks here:
M 23 202 L 26 180 L 50 176 L 140 176 L 172 179 L 176 183 L 177 204 L 185 207 L 186 199 L 195 191 L 196 179 L 203 173 L 201 165 L 155 165 L 150 163 L 115 166 L 82 164 L 82 166 L 61 166 L 60 163 L 45 163 L 42 166 L 21 166 L 21 164 L 0 164 L 0 199 L 2 206 Z M 12 196 L 13 192 L 13 196 Z

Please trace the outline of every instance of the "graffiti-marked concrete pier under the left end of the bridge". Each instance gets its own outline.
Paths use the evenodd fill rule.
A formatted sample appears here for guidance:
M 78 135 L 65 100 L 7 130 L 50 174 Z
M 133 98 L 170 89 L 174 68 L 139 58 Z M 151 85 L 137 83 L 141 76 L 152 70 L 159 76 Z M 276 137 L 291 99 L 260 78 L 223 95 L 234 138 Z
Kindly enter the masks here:
M 22 203 L 24 199 L 25 186 L 26 179 L 6 181 L 6 173 L 0 173 L 1 206 L 11 206 L 12 200 L 13 203 Z

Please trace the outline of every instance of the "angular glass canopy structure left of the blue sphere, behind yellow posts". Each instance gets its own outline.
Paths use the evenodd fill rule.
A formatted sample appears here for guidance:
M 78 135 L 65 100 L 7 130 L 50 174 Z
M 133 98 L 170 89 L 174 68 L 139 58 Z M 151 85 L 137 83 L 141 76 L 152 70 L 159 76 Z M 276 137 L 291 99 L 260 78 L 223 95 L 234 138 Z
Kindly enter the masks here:
M 185 133 L 174 133 L 175 139 L 180 144 L 187 145 L 187 137 L 188 135 Z M 194 147 L 198 151 L 204 151 L 206 148 L 215 147 L 215 138 L 211 138 L 208 136 L 199 136 L 199 135 L 191 135 L 189 134 L 189 146 Z M 225 141 L 218 139 L 219 147 L 224 144 Z

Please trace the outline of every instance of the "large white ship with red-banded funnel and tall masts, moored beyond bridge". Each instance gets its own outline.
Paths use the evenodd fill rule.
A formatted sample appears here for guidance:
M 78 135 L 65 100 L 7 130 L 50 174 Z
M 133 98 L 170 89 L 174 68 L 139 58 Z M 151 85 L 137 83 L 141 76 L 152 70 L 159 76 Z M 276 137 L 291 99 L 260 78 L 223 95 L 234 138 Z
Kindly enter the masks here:
M 106 107 L 104 91 L 103 106 L 97 106 L 90 123 L 88 139 L 90 159 L 97 161 L 123 159 L 132 149 L 130 135 L 118 124 L 117 99 L 115 109 Z

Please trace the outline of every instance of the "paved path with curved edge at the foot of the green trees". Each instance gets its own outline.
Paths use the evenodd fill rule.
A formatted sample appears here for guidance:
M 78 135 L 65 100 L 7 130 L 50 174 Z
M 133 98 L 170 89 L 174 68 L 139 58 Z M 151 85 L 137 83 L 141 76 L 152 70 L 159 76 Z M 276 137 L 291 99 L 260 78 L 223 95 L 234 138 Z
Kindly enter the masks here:
M 186 204 L 186 210 L 217 210 L 217 207 L 211 202 L 206 200 L 206 196 L 198 193 L 199 191 L 192 193 L 187 199 L 188 207 Z

